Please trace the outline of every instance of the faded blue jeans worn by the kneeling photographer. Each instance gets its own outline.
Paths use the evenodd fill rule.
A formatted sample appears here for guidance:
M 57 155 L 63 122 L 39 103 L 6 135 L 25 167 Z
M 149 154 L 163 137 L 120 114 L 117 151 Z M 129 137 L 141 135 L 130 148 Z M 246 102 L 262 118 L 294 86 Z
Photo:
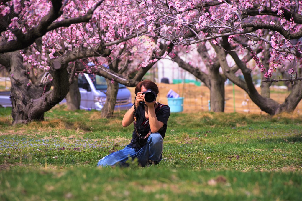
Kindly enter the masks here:
M 163 139 L 159 133 L 151 133 L 146 145 L 140 149 L 127 145 L 124 149 L 111 153 L 98 161 L 98 166 L 125 165 L 129 156 L 137 158 L 141 166 L 146 166 L 149 159 L 159 163 L 162 159 Z

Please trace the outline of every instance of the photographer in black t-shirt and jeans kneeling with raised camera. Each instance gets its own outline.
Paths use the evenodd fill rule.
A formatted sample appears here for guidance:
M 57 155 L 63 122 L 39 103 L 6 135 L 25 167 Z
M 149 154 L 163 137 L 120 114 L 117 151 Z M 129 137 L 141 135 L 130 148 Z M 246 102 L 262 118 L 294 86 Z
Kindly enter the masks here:
M 132 140 L 124 149 L 100 159 L 98 166 L 125 165 L 129 156 L 137 158 L 142 167 L 161 161 L 170 108 L 155 101 L 158 93 L 158 86 L 150 80 L 137 84 L 134 104 L 122 121 L 124 127 L 133 122 Z

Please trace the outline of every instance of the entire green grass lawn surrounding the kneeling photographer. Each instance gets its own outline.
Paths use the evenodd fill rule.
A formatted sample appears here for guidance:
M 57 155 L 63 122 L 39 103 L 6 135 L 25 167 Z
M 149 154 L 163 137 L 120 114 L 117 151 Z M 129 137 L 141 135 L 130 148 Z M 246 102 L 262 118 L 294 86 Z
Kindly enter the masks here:
M 11 126 L 0 108 L 0 200 L 299 200 L 302 118 L 172 113 L 156 167 L 96 168 L 123 149 L 124 111 L 56 106 L 45 121 Z

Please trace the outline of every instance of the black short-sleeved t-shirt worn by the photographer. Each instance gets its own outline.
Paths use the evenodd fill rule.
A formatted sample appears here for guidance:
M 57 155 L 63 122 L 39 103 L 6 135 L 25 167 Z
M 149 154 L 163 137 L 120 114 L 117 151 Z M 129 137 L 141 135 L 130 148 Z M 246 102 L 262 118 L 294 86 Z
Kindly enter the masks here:
M 161 134 L 162 138 L 165 137 L 166 131 L 167 131 L 167 122 L 168 118 L 170 116 L 170 108 L 168 105 L 162 105 L 158 103 L 156 107 L 160 107 L 156 112 L 156 118 L 158 121 L 161 121 L 164 123 L 164 125 L 157 131 L 159 134 Z M 137 119 L 137 132 L 141 136 L 146 136 L 149 133 L 150 126 L 149 123 L 147 125 L 143 125 L 146 122 L 146 117 L 145 117 L 145 107 L 140 105 L 139 107 L 136 108 L 136 119 Z M 132 140 L 130 145 L 133 147 L 137 147 L 135 142 L 137 140 L 137 135 L 135 133 L 135 130 L 132 133 Z

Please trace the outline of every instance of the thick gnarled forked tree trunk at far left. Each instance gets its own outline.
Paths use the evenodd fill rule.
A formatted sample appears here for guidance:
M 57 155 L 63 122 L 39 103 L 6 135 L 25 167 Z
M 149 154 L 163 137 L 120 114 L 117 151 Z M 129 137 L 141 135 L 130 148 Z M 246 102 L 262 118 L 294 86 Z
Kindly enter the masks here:
M 53 90 L 43 83 L 30 82 L 28 70 L 23 65 L 21 54 L 16 52 L 6 53 L 9 66 L 5 66 L 11 78 L 11 102 L 13 124 L 27 123 L 29 121 L 44 119 L 44 112 L 59 103 L 68 92 L 68 72 L 61 68 L 52 72 Z

